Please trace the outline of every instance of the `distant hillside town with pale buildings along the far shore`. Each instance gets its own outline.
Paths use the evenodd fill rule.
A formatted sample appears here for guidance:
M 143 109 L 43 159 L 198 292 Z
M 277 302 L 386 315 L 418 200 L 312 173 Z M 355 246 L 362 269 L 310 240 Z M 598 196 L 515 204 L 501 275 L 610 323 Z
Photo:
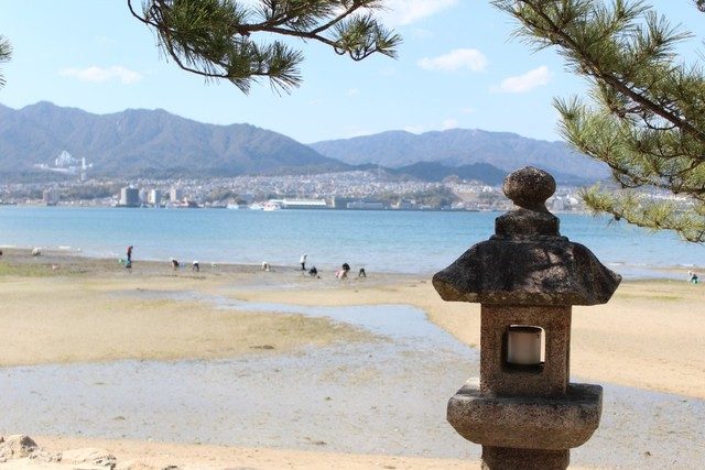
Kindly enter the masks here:
M 560 187 L 554 210 L 582 210 Z M 207 179 L 89 179 L 0 185 L 0 204 L 252 210 L 506 210 L 500 185 L 446 177 L 429 183 L 382 171 Z

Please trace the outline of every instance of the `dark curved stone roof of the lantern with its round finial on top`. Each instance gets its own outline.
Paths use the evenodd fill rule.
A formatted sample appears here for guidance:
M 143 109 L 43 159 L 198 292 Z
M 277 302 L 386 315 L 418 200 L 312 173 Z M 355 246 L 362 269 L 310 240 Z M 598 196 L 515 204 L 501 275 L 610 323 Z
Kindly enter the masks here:
M 505 193 L 519 208 L 496 219 L 490 240 L 471 247 L 433 276 L 441 297 L 503 305 L 609 300 L 621 276 L 584 245 L 560 236 L 558 219 L 544 205 L 554 190 L 553 177 L 540 170 L 527 167 L 509 175 Z

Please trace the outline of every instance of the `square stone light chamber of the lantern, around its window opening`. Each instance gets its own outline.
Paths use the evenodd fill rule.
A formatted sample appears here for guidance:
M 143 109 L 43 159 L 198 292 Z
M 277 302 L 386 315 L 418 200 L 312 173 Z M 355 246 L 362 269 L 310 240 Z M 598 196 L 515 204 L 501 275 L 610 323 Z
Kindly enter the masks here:
M 510 325 L 541 327 L 545 361 L 517 369 L 505 362 L 505 337 Z M 482 305 L 480 323 L 480 390 L 496 395 L 565 394 L 571 375 L 571 307 Z

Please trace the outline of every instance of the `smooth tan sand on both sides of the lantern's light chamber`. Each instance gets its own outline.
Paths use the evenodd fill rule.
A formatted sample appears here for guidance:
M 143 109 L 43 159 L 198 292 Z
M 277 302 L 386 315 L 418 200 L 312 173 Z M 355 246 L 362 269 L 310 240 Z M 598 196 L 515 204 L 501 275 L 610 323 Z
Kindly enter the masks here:
M 685 278 L 685 276 L 683 276 Z M 330 292 L 329 289 L 334 289 Z M 479 345 L 477 304 L 443 302 L 430 280 L 389 276 L 291 292 L 232 288 L 236 298 L 302 305 L 410 304 L 462 342 Z M 625 282 L 606 305 L 575 307 L 571 341 L 574 376 L 705 398 L 705 288 L 677 281 Z

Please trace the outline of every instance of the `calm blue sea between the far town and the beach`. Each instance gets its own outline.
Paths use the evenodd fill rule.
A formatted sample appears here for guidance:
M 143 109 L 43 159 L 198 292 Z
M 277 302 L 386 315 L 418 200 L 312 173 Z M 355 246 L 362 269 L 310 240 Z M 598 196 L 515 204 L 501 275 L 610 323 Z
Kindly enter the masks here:
M 494 233 L 498 214 L 419 211 L 118 209 L 0 207 L 0 245 L 79 251 L 88 256 L 296 265 L 432 273 Z M 606 218 L 560 215 L 561 232 L 626 277 L 704 266 L 705 247 Z

